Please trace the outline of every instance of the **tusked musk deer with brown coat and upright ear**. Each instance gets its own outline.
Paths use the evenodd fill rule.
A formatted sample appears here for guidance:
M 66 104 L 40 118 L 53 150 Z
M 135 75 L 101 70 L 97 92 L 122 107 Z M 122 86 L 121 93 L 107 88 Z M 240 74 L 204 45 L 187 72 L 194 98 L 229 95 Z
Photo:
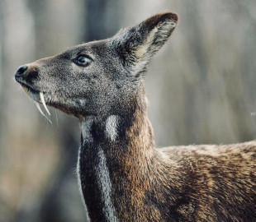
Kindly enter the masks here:
M 17 70 L 39 108 L 80 121 L 78 183 L 91 221 L 256 221 L 256 141 L 154 145 L 144 74 L 177 23 L 157 14 Z

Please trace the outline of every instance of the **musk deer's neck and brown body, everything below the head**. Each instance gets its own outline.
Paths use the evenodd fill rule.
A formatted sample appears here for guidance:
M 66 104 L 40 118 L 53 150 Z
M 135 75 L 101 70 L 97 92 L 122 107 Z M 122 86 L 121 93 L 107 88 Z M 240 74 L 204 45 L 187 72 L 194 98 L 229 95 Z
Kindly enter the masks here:
M 112 116 L 82 123 L 79 176 L 92 221 L 255 220 L 256 141 L 157 149 L 145 106 L 133 110 L 110 128 Z

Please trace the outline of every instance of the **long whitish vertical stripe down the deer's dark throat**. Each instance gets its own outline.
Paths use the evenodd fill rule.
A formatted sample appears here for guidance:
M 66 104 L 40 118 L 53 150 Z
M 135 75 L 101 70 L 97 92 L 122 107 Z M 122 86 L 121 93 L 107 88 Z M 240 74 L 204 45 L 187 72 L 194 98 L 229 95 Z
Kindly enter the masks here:
M 99 157 L 97 181 L 102 193 L 102 201 L 104 204 L 103 213 L 105 214 L 107 221 L 117 222 L 119 220 L 115 215 L 115 208 L 111 203 L 111 180 L 107 169 L 106 156 L 101 148 L 99 148 L 97 155 Z

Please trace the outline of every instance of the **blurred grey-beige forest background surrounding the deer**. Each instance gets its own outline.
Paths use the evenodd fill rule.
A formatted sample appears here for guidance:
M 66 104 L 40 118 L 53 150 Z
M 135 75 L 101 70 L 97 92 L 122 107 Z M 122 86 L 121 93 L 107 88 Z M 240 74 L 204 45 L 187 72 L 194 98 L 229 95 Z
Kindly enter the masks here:
M 145 79 L 156 144 L 256 138 L 255 0 L 0 0 L 1 222 L 85 221 L 78 120 L 51 109 L 47 122 L 17 67 L 163 11 L 179 24 Z

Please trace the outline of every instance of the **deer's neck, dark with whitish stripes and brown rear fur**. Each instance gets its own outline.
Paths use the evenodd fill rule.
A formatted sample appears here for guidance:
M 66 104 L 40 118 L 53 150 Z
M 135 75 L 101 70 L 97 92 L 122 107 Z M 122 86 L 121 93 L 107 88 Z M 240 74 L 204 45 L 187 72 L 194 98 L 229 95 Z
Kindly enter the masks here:
M 126 115 L 88 116 L 81 122 L 78 177 L 93 220 L 119 221 L 116 208 L 124 201 L 123 207 L 126 203 L 131 209 L 130 192 L 149 185 L 145 177 L 155 151 L 153 131 L 145 99 L 142 103 L 140 96 L 134 104 Z

